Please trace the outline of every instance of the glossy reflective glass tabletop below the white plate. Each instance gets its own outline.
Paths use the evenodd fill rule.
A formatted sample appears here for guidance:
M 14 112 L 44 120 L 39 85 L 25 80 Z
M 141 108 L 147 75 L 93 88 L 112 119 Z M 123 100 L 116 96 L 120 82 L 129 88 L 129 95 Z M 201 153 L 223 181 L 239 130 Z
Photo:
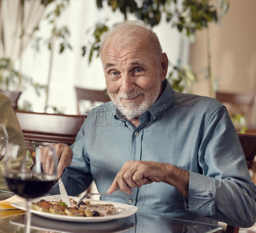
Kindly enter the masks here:
M 6 220 L 7 221 L 7 220 Z M 7 223 L 7 222 L 6 222 Z M 1 232 L 20 233 L 24 227 L 24 216 L 13 217 L 4 224 L 8 226 Z M 3 226 L 3 224 L 1 224 Z M 127 218 L 116 219 L 108 222 L 64 222 L 47 219 L 38 215 L 32 215 L 31 232 L 33 233 L 110 233 L 110 232 L 171 232 L 171 233 L 206 233 L 216 232 L 222 229 L 221 226 L 203 224 L 199 222 L 185 221 L 173 218 L 166 218 L 154 215 L 137 213 Z

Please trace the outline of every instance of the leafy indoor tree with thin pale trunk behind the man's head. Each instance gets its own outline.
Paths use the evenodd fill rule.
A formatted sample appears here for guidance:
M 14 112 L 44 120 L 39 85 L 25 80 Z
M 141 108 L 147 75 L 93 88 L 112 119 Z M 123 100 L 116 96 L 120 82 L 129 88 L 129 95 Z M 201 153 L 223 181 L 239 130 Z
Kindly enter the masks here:
M 177 0 L 143 0 L 139 7 L 135 0 L 96 0 L 99 9 L 103 7 L 103 1 L 108 1 L 108 5 L 111 6 L 112 11 L 116 11 L 119 8 L 124 14 L 124 20 L 127 19 L 127 11 L 130 11 L 130 13 L 135 14 L 136 18 L 147 20 L 152 26 L 159 24 L 162 13 L 165 12 L 166 21 L 172 27 L 177 27 L 180 33 L 186 34 L 190 38 L 194 38 L 196 30 L 207 28 L 208 73 L 210 77 L 211 97 L 216 97 L 209 22 L 221 23 L 222 18 L 228 10 L 228 0 L 215 0 L 215 4 L 212 0 L 184 0 L 181 5 L 177 3 Z M 101 25 L 101 27 L 103 26 Z M 94 37 L 97 46 L 95 47 L 94 44 L 91 45 L 91 53 L 96 51 L 99 46 L 99 41 L 95 34 Z M 86 46 L 83 46 L 82 49 L 84 55 L 86 53 Z M 89 62 L 91 62 L 91 58 L 92 56 L 90 55 Z M 170 80 L 172 79 L 170 78 Z

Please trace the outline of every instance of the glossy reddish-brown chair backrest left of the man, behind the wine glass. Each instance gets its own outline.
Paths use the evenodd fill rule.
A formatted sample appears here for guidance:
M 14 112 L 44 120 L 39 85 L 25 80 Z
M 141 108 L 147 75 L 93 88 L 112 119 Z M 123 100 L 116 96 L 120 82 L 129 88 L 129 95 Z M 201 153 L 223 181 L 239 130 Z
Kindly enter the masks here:
M 33 144 L 75 142 L 86 115 L 63 115 L 16 111 L 24 135 L 25 145 L 33 151 Z

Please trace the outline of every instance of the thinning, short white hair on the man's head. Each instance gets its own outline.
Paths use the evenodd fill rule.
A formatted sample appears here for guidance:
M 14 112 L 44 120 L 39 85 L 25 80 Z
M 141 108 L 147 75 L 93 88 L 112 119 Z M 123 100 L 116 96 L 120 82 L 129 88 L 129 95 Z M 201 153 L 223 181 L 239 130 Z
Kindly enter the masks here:
M 139 29 L 139 30 L 138 30 Z M 99 49 L 100 60 L 101 52 L 104 48 L 105 42 L 108 38 L 111 40 L 119 40 L 124 39 L 122 41 L 122 46 L 128 45 L 132 40 L 137 39 L 148 39 L 151 42 L 152 47 L 155 52 L 156 57 L 156 66 L 158 66 L 161 62 L 162 58 L 162 46 L 159 42 L 159 39 L 156 33 L 153 32 L 152 27 L 143 21 L 135 21 L 135 20 L 127 20 L 121 23 L 114 25 L 112 28 L 108 29 L 108 31 L 103 35 L 101 39 L 101 46 Z

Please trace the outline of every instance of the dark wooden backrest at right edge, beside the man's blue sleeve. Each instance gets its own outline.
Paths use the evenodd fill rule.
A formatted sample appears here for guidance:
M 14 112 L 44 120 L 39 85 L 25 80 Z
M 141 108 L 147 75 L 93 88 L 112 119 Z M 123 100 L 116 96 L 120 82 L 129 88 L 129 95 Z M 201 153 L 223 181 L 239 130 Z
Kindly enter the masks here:
M 252 134 L 237 134 L 241 146 L 244 151 L 248 169 L 252 168 L 253 160 L 256 156 L 256 135 Z

